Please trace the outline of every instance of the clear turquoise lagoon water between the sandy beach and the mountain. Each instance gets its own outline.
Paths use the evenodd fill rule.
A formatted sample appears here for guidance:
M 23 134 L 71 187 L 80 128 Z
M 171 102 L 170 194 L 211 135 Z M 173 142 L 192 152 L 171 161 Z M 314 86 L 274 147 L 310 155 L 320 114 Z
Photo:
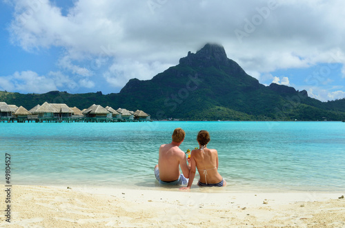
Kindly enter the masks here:
M 11 155 L 12 185 L 157 188 L 159 145 L 175 127 L 186 131 L 184 151 L 210 132 L 223 191 L 345 189 L 341 122 L 1 123 L 0 151 Z

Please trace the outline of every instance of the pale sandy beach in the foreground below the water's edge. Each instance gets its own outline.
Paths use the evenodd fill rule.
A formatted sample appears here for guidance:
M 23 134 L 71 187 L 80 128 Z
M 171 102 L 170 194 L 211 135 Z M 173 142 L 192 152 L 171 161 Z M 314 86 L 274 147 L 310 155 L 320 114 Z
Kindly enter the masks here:
M 0 226 L 345 227 L 344 193 L 71 188 L 13 185 L 10 222 L 1 216 Z

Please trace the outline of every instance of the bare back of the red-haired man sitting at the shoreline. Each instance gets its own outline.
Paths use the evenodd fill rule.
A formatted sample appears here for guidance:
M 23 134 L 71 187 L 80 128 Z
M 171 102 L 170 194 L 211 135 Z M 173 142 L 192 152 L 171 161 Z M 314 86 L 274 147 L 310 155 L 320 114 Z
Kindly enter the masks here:
M 159 147 L 159 178 L 164 181 L 173 181 L 179 178 L 179 162 L 184 158 L 184 152 L 172 143 Z M 186 159 L 186 158 L 184 158 Z

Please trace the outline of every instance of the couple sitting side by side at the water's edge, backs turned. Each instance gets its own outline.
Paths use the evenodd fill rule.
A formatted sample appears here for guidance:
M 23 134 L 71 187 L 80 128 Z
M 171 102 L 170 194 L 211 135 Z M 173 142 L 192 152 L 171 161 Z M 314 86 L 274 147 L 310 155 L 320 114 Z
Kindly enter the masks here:
M 195 177 L 196 168 L 200 179 L 199 186 L 223 187 L 226 181 L 218 173 L 218 153 L 216 149 L 208 149 L 207 143 L 210 141 L 210 134 L 201 130 L 197 135 L 197 142 L 200 149 L 193 149 L 188 164 L 186 154 L 179 149 L 179 145 L 184 141 L 186 133 L 181 128 L 176 128 L 172 134 L 172 142 L 159 147 L 158 165 L 155 166 L 156 179 L 162 185 L 186 185 L 180 189 L 190 189 Z M 182 173 L 179 172 L 179 166 Z M 188 180 L 189 178 L 189 180 Z

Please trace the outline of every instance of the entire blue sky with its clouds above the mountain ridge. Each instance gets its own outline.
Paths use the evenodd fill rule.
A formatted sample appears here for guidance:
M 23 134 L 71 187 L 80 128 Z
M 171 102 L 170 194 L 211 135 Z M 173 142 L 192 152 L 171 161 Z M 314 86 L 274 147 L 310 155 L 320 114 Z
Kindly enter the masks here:
M 340 0 L 0 0 L 0 90 L 119 92 L 205 43 L 264 85 L 345 97 Z

